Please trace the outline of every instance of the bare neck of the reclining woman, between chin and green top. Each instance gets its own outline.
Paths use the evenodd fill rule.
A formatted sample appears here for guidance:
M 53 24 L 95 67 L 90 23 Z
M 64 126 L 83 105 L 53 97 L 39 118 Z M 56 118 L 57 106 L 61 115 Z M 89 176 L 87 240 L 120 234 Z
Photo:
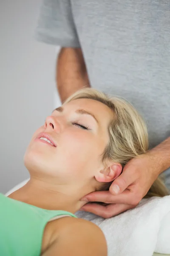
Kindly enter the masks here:
M 77 189 L 71 190 L 71 188 L 65 188 L 65 185 L 52 185 L 46 181 L 31 178 L 25 186 L 8 197 L 42 209 L 75 213 L 85 204 L 80 201 L 83 196 L 84 194 L 79 194 Z

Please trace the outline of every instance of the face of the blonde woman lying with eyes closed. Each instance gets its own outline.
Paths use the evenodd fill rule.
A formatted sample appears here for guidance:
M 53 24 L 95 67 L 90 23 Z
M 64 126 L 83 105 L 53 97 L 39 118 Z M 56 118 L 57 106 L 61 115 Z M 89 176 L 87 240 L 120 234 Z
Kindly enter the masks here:
M 99 156 L 109 140 L 111 117 L 110 108 L 92 99 L 57 108 L 31 139 L 24 157 L 27 169 L 65 183 L 91 179 L 101 168 Z

